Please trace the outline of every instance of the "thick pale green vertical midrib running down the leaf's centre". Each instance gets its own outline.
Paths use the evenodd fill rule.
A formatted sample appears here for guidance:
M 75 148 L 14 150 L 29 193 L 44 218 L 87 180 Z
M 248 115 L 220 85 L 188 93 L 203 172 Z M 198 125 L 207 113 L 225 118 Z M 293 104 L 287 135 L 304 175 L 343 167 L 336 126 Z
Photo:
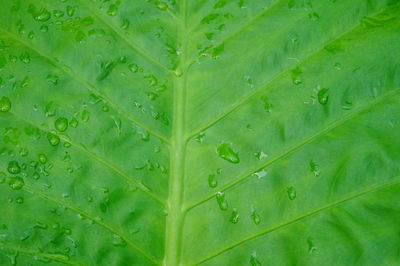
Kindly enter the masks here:
M 183 182 L 185 174 L 185 91 L 186 91 L 186 64 L 187 64 L 187 25 L 186 25 L 186 1 L 181 1 L 180 27 L 178 29 L 178 45 L 181 46 L 180 63 L 177 69 L 182 75 L 174 78 L 172 140 L 170 148 L 171 175 L 168 190 L 168 216 L 165 236 L 165 266 L 177 266 L 180 264 L 181 239 L 183 227 Z M 179 73 L 177 71 L 176 73 Z

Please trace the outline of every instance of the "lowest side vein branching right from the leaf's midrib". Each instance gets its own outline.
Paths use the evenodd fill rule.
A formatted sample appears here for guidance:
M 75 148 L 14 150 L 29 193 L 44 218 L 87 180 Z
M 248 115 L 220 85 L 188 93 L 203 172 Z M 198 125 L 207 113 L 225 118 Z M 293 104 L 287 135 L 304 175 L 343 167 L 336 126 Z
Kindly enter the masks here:
M 285 222 L 282 222 L 282 223 L 277 224 L 275 226 L 272 226 L 270 228 L 264 229 L 264 230 L 262 230 L 260 232 L 255 233 L 255 234 L 249 235 L 249 236 L 247 236 L 247 237 L 245 237 L 245 238 L 243 238 L 243 239 L 241 239 L 241 240 L 239 240 L 239 241 L 237 241 L 237 242 L 235 242 L 233 244 L 230 244 L 229 246 L 227 246 L 225 248 L 220 249 L 219 251 L 217 251 L 217 252 L 215 252 L 215 253 L 213 253 L 211 255 L 206 256 L 204 259 L 202 259 L 202 260 L 200 260 L 200 261 L 198 261 L 196 263 L 193 263 L 193 265 L 198 265 L 198 264 L 204 263 L 204 262 L 206 262 L 206 261 L 208 261 L 208 260 L 210 260 L 210 259 L 212 259 L 212 258 L 214 258 L 214 257 L 216 257 L 216 256 L 228 251 L 228 250 L 231 250 L 231 249 L 233 249 L 233 248 L 235 248 L 235 247 L 237 247 L 237 246 L 239 246 L 239 245 L 241 245 L 241 244 L 243 244 L 243 243 L 245 243 L 247 241 L 253 240 L 253 239 L 255 239 L 257 237 L 260 237 L 262 235 L 266 235 L 266 234 L 271 233 L 273 231 L 276 231 L 278 229 L 282 229 L 282 228 L 287 227 L 287 226 L 289 226 L 289 225 L 291 225 L 291 224 L 293 224 L 295 222 L 303 220 L 303 219 L 305 219 L 307 217 L 314 216 L 314 215 L 316 215 L 316 214 L 318 214 L 320 212 L 323 212 L 323 211 L 332 209 L 334 207 L 337 207 L 338 205 L 340 205 L 342 203 L 345 203 L 347 201 L 356 199 L 358 197 L 361 197 L 361 196 L 364 196 L 364 195 L 367 195 L 367 194 L 370 194 L 370 193 L 379 192 L 380 190 L 383 190 L 383 189 L 388 188 L 390 186 L 396 185 L 399 182 L 400 182 L 400 178 L 397 176 L 397 177 L 394 177 L 391 180 L 386 181 L 384 183 L 376 184 L 376 185 L 370 186 L 370 187 L 368 187 L 368 188 L 366 188 L 364 190 L 361 190 L 361 191 L 358 191 L 358 192 L 354 192 L 354 193 L 352 193 L 350 195 L 347 195 L 346 197 L 344 197 L 342 199 L 338 199 L 336 201 L 330 202 L 330 203 L 325 204 L 325 205 L 323 205 L 323 206 L 321 206 L 319 208 L 316 208 L 316 209 L 308 211 L 308 212 L 306 212 L 306 213 L 304 213 L 304 214 L 302 214 L 300 216 L 297 216 L 297 217 L 295 217 L 293 219 L 287 220 Z

